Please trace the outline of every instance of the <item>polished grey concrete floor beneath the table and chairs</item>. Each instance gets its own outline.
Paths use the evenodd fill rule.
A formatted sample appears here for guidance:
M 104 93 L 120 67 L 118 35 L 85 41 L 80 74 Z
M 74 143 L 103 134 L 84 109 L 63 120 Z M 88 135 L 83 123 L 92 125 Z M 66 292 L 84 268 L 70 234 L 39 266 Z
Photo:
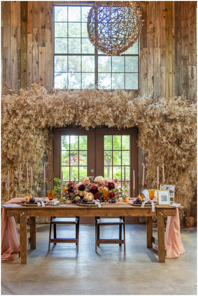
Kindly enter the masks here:
M 66 228 L 65 228 L 66 227 Z M 74 237 L 74 227 L 58 226 L 57 237 Z M 197 229 L 181 229 L 186 253 L 158 263 L 146 248 L 146 225 L 127 224 L 123 246 L 103 244 L 95 253 L 95 226 L 80 225 L 75 244 L 51 244 L 49 224 L 37 226 L 36 250 L 28 265 L 1 261 L 1 295 L 197 295 Z M 118 238 L 118 226 L 101 227 L 101 238 Z M 157 237 L 157 229 L 154 228 Z

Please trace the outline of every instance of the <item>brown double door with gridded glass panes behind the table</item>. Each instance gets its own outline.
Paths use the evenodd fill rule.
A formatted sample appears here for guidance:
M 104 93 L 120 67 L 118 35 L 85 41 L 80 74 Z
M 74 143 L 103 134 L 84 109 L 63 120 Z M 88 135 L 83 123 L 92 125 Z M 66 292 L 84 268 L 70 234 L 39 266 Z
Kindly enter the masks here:
M 54 128 L 53 130 L 53 177 L 64 181 L 84 176 L 104 176 L 124 182 L 124 165 L 127 192 L 133 196 L 133 170 L 135 170 L 135 196 L 138 194 L 138 128 Z M 54 183 L 55 185 L 55 183 Z M 84 218 L 93 222 L 93 217 Z M 138 218 L 129 217 L 131 222 Z

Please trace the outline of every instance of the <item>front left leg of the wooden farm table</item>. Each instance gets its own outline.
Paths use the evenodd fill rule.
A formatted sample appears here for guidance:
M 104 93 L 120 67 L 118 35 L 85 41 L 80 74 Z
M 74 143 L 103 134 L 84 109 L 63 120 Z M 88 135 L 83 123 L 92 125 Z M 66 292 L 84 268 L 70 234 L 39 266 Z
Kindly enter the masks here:
M 20 258 L 27 264 L 27 210 L 20 211 Z

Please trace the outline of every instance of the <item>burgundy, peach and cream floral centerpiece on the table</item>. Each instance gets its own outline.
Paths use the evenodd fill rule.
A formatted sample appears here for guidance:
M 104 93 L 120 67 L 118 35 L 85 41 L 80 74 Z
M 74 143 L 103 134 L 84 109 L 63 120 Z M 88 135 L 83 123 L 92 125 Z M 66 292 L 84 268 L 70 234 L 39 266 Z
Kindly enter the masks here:
M 80 200 L 87 202 L 92 200 L 99 200 L 104 202 L 105 200 L 110 199 L 109 202 L 116 202 L 116 199 L 119 201 L 122 200 L 122 189 L 117 189 L 115 184 L 118 180 L 111 178 L 104 178 L 103 176 L 95 177 L 83 177 L 79 181 L 70 181 L 63 183 L 63 194 L 61 190 L 61 180 L 59 178 L 54 178 L 54 181 L 57 183 L 57 186 L 54 186 L 55 195 L 66 201 L 72 199 L 72 203 L 80 203 Z

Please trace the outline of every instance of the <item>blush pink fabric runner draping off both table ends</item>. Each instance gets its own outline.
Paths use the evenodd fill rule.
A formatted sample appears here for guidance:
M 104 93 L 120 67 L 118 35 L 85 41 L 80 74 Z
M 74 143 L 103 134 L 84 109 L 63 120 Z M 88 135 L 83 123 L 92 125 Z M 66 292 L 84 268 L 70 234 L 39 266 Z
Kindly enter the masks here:
M 35 200 L 39 200 L 36 198 Z M 13 198 L 11 203 L 21 203 L 24 198 Z M 49 202 L 48 198 L 45 198 Z M 157 198 L 154 199 L 157 201 Z M 173 259 L 185 253 L 183 242 L 180 234 L 179 212 L 176 208 L 176 215 L 167 218 L 166 225 L 166 258 Z M 14 217 L 7 217 L 7 209 L 2 210 L 1 215 L 1 260 L 14 260 L 18 258 L 20 244 L 18 239 L 18 231 Z M 155 247 L 155 250 L 158 250 Z

